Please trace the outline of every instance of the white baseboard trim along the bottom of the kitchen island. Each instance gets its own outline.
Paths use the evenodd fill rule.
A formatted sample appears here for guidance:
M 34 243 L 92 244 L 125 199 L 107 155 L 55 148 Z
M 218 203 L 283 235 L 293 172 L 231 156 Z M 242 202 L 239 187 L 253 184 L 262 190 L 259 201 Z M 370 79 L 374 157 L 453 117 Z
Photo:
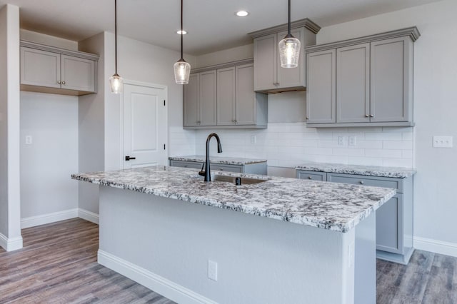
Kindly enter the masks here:
M 121 275 L 125 275 L 127 278 L 130 278 L 177 303 L 216 303 L 199 293 L 195 293 L 184 286 L 118 258 L 111 253 L 106 253 L 103 250 L 99 250 L 97 261 L 99 264 L 104 265 L 117 273 L 121 273 Z

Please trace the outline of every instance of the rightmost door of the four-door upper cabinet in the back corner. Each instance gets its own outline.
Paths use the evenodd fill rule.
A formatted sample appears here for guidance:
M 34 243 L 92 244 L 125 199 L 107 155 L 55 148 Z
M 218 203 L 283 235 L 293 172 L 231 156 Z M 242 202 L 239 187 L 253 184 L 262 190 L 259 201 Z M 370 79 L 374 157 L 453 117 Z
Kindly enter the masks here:
M 235 120 L 238 125 L 256 124 L 256 93 L 253 91 L 254 66 L 236 66 Z

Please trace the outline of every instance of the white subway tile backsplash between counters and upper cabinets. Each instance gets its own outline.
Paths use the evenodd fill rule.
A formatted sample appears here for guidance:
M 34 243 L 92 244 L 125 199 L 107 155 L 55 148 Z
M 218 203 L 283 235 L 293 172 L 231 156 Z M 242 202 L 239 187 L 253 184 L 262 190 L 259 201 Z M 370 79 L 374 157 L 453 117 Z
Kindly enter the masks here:
M 221 138 L 219 156 L 266 158 L 268 166 L 294 168 L 303 161 L 411 168 L 413 127 L 307 128 L 306 123 L 268 123 L 262 130 L 198 130 L 195 150 L 191 131 L 171 131 L 170 155 L 205 154 L 206 137 L 215 131 Z M 349 145 L 349 136 L 355 144 Z M 178 145 L 178 146 L 176 146 Z M 180 150 L 180 151 L 179 151 Z M 186 153 L 184 153 L 186 151 Z M 179 153 L 178 153 L 179 152 Z M 211 141 L 216 155 L 216 141 Z

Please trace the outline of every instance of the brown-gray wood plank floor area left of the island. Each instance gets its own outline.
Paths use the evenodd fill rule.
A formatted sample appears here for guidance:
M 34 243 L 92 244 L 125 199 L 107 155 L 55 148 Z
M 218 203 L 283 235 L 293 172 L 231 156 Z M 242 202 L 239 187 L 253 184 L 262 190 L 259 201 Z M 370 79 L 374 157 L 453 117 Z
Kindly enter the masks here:
M 96 262 L 99 226 L 79 218 L 22 230 L 0 251 L 0 303 L 174 303 Z

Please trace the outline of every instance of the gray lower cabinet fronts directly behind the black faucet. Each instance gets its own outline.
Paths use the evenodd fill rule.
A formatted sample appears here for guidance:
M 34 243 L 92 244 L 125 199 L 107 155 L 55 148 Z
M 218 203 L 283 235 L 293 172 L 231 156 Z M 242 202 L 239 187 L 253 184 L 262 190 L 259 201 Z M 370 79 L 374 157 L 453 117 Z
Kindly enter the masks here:
M 204 162 L 200 162 L 200 161 L 170 160 L 171 167 L 201 169 L 203 164 L 204 164 Z M 228 171 L 228 172 L 237 172 L 237 173 L 250 173 L 250 174 L 266 175 L 267 167 L 266 167 L 266 162 L 247 163 L 247 164 L 243 164 L 243 165 L 229 165 L 226 163 L 211 162 L 211 171 Z

